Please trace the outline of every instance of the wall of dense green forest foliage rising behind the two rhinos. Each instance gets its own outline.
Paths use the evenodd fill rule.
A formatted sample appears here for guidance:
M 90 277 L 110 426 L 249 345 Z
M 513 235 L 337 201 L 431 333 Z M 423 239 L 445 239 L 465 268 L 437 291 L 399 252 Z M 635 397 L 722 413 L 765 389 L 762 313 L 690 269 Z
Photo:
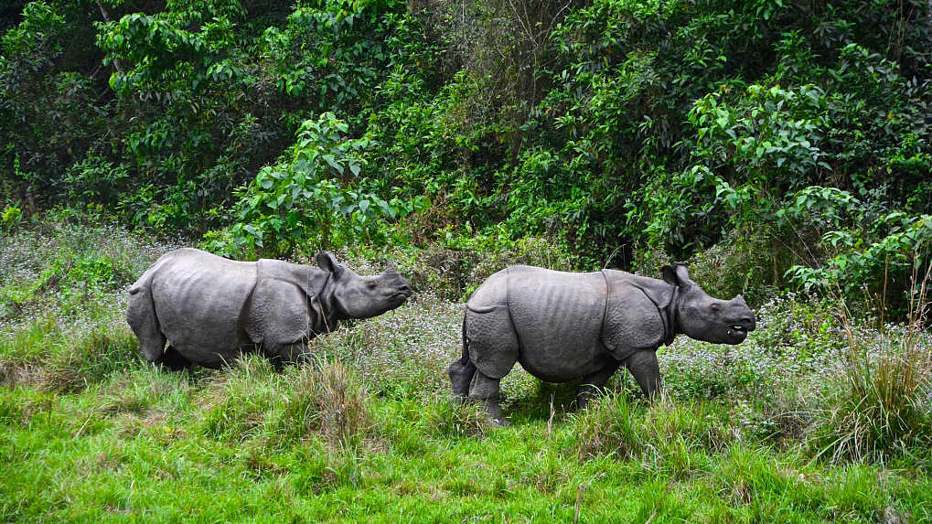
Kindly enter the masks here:
M 64 203 L 240 255 L 717 247 L 723 293 L 886 280 L 899 310 L 928 260 L 925 1 L 6 9 L 7 228 Z

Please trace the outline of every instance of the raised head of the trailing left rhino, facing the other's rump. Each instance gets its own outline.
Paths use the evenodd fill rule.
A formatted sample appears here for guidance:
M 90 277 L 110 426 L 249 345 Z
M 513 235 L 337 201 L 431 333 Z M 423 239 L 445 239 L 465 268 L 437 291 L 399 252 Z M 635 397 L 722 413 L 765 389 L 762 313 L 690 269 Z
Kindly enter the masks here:
M 393 263 L 378 275 L 360 276 L 324 251 L 317 255 L 317 265 L 331 273 L 331 296 L 336 308 L 349 318 L 380 315 L 401 306 L 411 296 L 410 284 Z

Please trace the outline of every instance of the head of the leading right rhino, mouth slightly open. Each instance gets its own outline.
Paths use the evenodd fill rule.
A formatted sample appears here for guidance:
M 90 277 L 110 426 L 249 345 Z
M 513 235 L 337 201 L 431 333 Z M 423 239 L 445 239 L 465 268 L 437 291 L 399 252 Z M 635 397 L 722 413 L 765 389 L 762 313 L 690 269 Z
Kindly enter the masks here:
M 708 296 L 690 280 L 683 264 L 666 266 L 661 273 L 664 281 L 677 289 L 671 312 L 676 315 L 680 333 L 714 344 L 740 344 L 747 332 L 754 331 L 754 311 L 747 307 L 744 297 L 721 300 Z

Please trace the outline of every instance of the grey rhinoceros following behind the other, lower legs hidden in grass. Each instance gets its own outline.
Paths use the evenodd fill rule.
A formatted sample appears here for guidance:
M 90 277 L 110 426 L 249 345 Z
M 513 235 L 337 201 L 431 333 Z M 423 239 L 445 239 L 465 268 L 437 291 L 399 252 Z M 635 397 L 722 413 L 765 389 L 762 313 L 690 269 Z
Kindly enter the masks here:
M 374 317 L 411 296 L 393 265 L 361 277 L 328 252 L 317 264 L 172 251 L 130 287 L 127 322 L 149 362 L 217 367 L 254 351 L 290 362 L 338 321 Z

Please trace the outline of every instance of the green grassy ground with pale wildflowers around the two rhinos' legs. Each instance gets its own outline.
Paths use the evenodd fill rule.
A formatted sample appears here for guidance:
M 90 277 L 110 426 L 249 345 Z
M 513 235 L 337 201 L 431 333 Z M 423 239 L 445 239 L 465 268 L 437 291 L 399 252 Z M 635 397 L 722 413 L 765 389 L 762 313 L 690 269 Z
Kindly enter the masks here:
M 812 460 L 817 419 L 787 413 L 833 372 L 839 335 L 801 303 L 761 310 L 732 352 L 678 340 L 652 407 L 622 376 L 568 414 L 569 388 L 513 373 L 514 426 L 491 429 L 444 400 L 459 306 L 428 293 L 318 338 L 316 365 L 144 365 L 121 290 L 168 248 L 106 229 L 0 237 L 4 519 L 571 521 L 577 503 L 581 522 L 932 518 L 921 449 Z

